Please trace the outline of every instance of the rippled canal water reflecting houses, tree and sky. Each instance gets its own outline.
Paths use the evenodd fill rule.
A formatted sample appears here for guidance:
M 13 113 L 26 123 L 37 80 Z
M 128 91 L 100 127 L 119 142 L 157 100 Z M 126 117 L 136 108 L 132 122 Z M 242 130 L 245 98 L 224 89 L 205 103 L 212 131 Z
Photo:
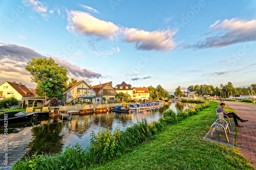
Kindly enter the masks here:
M 73 115 L 72 120 L 61 121 L 58 117 L 44 117 L 38 122 L 26 122 L 8 125 L 8 165 L 20 158 L 34 153 L 60 153 L 66 147 L 76 145 L 83 148 L 90 145 L 90 135 L 103 129 L 124 131 L 127 127 L 138 124 L 141 119 L 147 122 L 158 121 L 165 110 L 183 110 L 194 104 L 173 102 L 153 110 L 138 110 L 132 113 L 97 112 Z M 0 169 L 4 166 L 5 136 L 4 127 L 0 127 Z

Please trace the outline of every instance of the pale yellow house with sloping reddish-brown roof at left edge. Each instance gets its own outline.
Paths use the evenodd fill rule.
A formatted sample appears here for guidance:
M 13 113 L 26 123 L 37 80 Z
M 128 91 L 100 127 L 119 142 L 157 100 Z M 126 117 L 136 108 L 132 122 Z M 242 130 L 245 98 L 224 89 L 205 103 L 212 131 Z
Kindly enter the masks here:
M 5 82 L 0 85 L 0 98 L 10 98 L 12 96 L 21 100 L 23 97 L 35 97 L 35 94 L 22 83 Z

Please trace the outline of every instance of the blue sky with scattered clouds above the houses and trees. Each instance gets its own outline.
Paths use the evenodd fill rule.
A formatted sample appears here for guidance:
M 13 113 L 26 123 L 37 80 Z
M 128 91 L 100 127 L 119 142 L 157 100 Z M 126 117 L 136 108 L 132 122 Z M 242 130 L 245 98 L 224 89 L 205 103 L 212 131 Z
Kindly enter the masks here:
M 0 84 L 51 57 L 91 85 L 247 87 L 255 54 L 256 1 L 0 1 Z

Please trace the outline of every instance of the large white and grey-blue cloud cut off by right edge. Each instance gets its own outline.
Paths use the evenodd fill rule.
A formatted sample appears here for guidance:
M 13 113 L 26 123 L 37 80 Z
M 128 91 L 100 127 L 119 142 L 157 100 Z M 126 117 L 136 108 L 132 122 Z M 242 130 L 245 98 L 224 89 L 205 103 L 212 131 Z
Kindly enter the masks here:
M 256 41 L 256 19 L 245 20 L 239 18 L 216 21 L 210 25 L 211 33 L 216 35 L 206 37 L 196 44 L 187 45 L 187 48 L 222 47 L 231 44 Z

